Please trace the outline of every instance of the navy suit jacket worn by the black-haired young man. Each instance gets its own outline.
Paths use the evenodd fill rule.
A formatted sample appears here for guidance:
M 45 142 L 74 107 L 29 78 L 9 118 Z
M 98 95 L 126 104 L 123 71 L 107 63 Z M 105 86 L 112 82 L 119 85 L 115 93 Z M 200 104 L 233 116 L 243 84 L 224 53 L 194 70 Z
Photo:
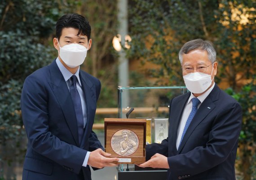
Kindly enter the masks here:
M 22 119 L 28 137 L 22 180 L 90 180 L 83 167 L 88 151 L 103 147 L 92 131 L 100 81 L 80 70 L 87 124 L 79 144 L 75 109 L 61 71 L 54 60 L 24 82 Z

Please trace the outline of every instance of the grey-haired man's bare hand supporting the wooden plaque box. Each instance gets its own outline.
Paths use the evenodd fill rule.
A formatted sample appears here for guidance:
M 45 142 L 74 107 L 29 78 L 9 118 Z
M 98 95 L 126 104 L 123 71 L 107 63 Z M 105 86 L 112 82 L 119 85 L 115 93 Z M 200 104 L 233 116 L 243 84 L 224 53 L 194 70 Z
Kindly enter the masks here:
M 147 162 L 138 165 L 139 167 L 153 167 L 153 168 L 166 168 L 169 169 L 169 164 L 167 157 L 165 157 L 162 154 L 154 154 L 154 156 L 151 157 L 150 160 Z

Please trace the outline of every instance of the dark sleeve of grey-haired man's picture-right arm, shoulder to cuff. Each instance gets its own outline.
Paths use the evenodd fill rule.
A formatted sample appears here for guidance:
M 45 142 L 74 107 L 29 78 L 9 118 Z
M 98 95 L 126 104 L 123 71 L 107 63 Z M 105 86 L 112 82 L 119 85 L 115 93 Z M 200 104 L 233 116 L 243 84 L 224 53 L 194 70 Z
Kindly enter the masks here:
M 207 171 L 224 162 L 238 143 L 241 130 L 242 110 L 236 103 L 228 103 L 212 124 L 209 140 L 185 154 L 168 157 L 172 173 L 191 176 Z M 234 154 L 235 155 L 235 154 Z

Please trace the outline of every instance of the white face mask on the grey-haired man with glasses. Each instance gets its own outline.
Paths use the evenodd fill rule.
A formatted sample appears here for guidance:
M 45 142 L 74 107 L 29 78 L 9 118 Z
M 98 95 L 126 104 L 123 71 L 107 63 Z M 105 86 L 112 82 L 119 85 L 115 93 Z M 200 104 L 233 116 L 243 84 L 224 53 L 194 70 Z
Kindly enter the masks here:
M 213 67 L 212 67 L 212 71 L 213 71 Z M 205 73 L 196 72 L 196 73 L 189 73 L 183 76 L 183 79 L 185 81 L 185 85 L 187 89 L 191 93 L 201 94 L 205 90 L 207 90 L 208 87 L 211 86 L 212 80 L 214 79 L 214 77 L 212 78 L 211 76 L 212 76 L 212 73 L 211 75 L 209 75 Z

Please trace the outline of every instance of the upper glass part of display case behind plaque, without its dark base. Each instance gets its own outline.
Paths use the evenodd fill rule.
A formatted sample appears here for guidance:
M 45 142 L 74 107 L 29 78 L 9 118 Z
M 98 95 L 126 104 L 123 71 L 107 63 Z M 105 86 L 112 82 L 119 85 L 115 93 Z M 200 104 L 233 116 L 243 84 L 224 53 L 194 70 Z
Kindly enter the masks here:
M 146 144 L 168 136 L 170 100 L 188 92 L 185 86 L 118 87 L 118 117 L 147 121 Z M 132 112 L 129 110 L 134 108 Z

